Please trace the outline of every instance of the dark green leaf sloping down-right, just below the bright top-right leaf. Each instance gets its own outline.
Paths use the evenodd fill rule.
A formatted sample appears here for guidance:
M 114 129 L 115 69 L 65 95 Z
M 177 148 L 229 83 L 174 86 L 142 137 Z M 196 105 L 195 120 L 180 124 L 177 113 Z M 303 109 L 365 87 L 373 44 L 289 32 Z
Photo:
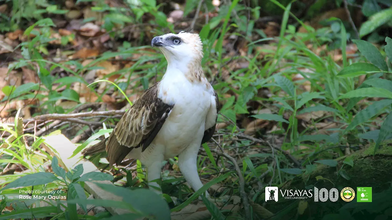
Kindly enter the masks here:
M 391 17 L 392 18 L 392 17 Z M 374 46 L 372 43 L 364 40 L 352 40 L 358 47 L 361 54 L 365 56 L 365 58 L 373 63 L 376 67 L 381 70 L 388 71 L 387 63 L 385 62 L 385 58 L 381 55 L 381 52 Z

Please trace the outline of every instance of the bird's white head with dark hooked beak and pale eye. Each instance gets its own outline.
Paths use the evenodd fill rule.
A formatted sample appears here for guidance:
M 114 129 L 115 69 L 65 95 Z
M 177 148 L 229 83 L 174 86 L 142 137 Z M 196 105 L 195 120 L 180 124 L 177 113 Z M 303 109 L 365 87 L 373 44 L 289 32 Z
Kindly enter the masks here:
M 199 34 L 181 31 L 152 38 L 151 46 L 159 47 L 169 65 L 201 64 L 203 43 Z

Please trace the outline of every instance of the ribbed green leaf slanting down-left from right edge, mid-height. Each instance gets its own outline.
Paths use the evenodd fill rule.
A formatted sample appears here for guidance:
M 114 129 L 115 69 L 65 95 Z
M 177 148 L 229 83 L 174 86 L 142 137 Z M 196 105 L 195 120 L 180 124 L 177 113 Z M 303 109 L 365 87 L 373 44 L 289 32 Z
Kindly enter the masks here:
M 383 99 L 380 101 L 374 102 L 372 105 L 367 106 L 367 108 L 361 110 L 358 112 L 357 115 L 355 115 L 354 119 L 352 122 L 347 126 L 347 128 L 344 130 L 343 133 L 347 133 L 348 131 L 354 129 L 356 126 L 359 124 L 362 124 L 364 122 L 367 122 L 369 119 L 377 115 L 383 108 L 385 108 L 388 105 L 392 104 L 392 99 Z

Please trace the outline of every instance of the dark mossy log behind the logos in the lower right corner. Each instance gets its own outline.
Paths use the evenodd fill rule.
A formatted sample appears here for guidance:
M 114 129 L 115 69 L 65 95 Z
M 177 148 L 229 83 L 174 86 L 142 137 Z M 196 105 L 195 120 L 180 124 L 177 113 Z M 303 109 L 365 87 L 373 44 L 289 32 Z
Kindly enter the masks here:
M 275 216 L 270 219 L 373 220 L 376 216 L 380 216 L 380 219 L 392 218 L 392 141 L 383 142 L 375 155 L 373 152 L 374 144 L 370 144 L 368 148 L 336 159 L 338 162 L 336 167 L 319 164 L 316 170 L 310 174 L 298 175 L 281 184 L 278 186 L 278 202 L 267 202 L 266 208 L 275 213 Z M 354 166 L 351 167 L 343 163 L 346 157 L 353 160 Z M 345 172 L 346 175 L 343 176 L 347 179 L 343 178 L 340 171 Z M 319 176 L 323 178 L 320 179 Z M 313 186 L 328 190 L 337 188 L 339 191 L 338 201 L 314 202 L 313 197 L 306 200 L 289 200 L 284 199 L 280 192 L 285 189 L 313 189 Z M 372 187 L 372 202 L 357 202 L 359 195 L 356 195 L 354 200 L 345 202 L 340 197 L 340 191 L 345 187 L 351 187 L 354 191 L 357 190 L 357 187 Z M 261 200 L 259 200 L 259 204 L 264 202 L 264 196 L 261 196 Z M 300 215 L 299 213 L 304 207 L 306 207 L 305 211 Z M 388 215 L 391 216 L 388 218 Z

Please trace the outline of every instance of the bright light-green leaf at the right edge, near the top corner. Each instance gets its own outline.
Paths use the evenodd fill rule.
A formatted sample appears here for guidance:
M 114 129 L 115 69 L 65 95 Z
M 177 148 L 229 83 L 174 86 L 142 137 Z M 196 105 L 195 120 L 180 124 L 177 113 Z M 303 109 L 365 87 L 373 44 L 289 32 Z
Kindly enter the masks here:
M 359 35 L 363 37 L 366 34 L 373 32 L 381 25 L 389 22 L 391 19 L 392 8 L 379 11 L 378 13 L 370 16 L 370 18 L 362 24 L 361 28 L 359 29 Z

